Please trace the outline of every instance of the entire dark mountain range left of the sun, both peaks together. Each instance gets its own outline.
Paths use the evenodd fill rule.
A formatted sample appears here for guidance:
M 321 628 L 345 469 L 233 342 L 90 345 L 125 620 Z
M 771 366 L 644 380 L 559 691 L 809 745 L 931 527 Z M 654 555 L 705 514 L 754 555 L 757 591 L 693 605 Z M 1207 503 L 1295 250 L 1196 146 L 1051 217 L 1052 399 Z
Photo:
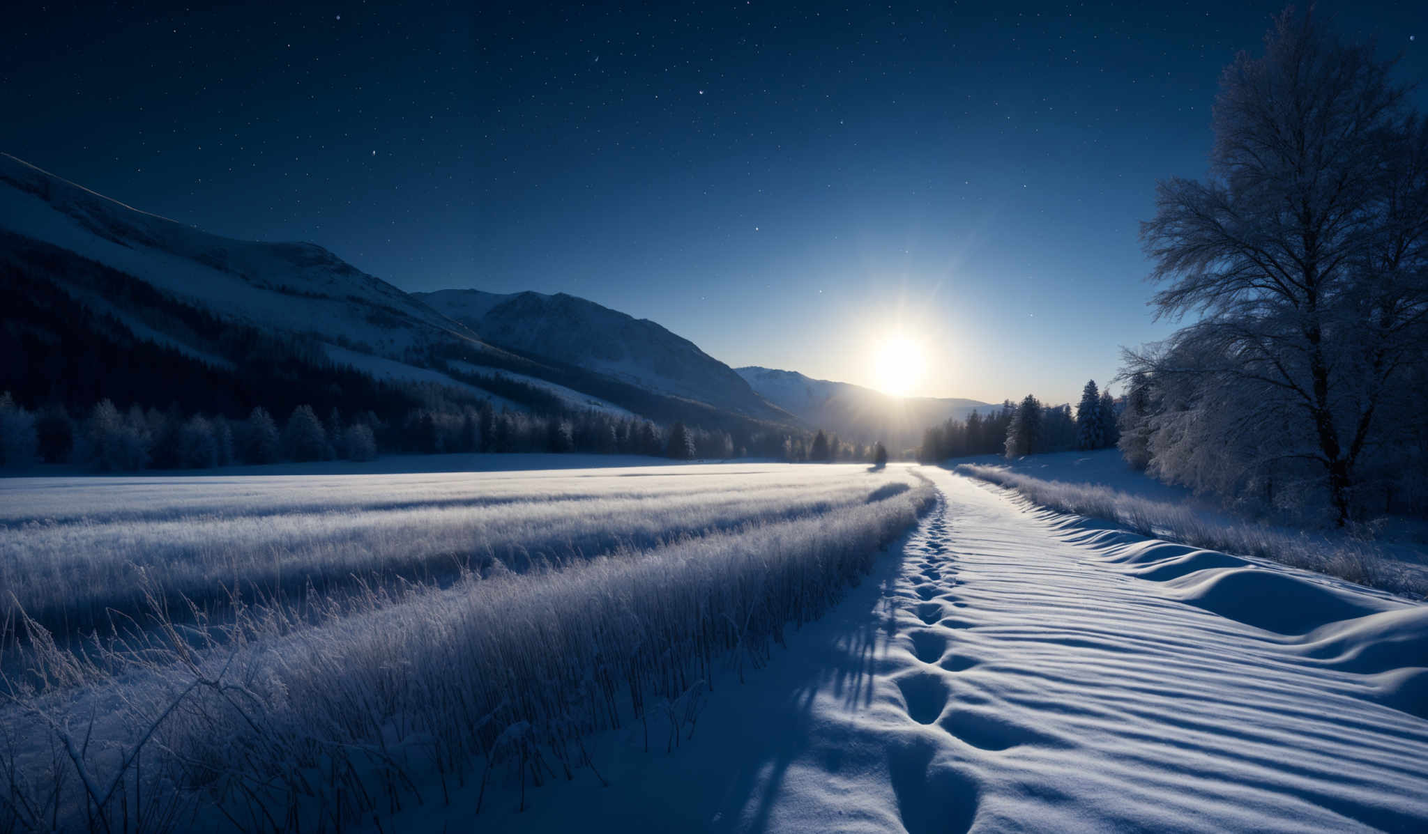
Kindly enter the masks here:
M 434 384 L 513 408 L 797 423 L 654 323 L 568 296 L 460 300 L 448 316 L 320 246 L 210 234 L 0 154 L 0 388 L 36 401 L 237 411 L 281 400 L 278 374 L 344 408 Z M 477 317 L 510 350 L 461 323 Z

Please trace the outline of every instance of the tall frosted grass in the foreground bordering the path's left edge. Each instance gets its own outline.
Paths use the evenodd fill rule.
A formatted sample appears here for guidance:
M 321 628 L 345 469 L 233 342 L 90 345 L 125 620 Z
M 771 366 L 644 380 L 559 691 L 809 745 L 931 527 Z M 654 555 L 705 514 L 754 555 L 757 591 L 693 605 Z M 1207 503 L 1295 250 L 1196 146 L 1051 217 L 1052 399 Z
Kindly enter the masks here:
M 248 831 L 340 831 L 458 785 L 481 795 L 490 778 L 518 783 L 524 801 L 527 785 L 594 771 L 593 733 L 681 744 L 720 680 L 823 614 L 935 500 L 907 470 L 780 468 L 745 473 L 748 504 L 727 496 L 740 491 L 730 476 L 704 484 L 705 498 L 720 513 L 805 514 L 754 513 L 700 534 L 675 524 L 658 544 L 527 573 L 497 563 L 444 587 L 358 583 L 301 611 L 234 598 L 217 624 L 170 613 L 146 573 L 146 610 L 79 645 L 21 620 L 26 670 L 0 687 L 0 831 L 220 817 Z M 694 478 L 650 488 L 660 494 L 631 513 L 673 503 L 671 521 L 707 518 Z M 613 498 L 554 506 L 584 517 L 595 500 Z M 544 524 L 520 530 L 540 537 Z

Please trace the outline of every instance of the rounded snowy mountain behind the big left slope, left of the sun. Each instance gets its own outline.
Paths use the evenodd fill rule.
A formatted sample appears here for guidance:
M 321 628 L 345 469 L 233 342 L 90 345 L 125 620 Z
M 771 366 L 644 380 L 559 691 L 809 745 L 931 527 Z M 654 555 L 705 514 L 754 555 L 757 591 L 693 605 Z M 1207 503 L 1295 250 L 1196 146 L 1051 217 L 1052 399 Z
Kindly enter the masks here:
M 438 290 L 413 296 L 500 347 L 738 414 L 788 420 L 733 368 L 648 318 L 564 293 Z

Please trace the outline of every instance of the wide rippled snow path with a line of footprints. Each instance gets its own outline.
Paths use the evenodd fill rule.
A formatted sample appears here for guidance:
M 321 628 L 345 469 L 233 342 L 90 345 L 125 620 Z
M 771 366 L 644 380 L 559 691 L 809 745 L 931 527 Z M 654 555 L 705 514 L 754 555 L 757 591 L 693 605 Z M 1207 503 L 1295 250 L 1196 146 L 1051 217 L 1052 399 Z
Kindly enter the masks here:
M 1428 830 L 1428 721 L 1042 513 L 922 471 L 944 501 L 902 558 L 725 683 L 693 744 L 611 740 L 611 787 L 547 785 L 478 827 Z

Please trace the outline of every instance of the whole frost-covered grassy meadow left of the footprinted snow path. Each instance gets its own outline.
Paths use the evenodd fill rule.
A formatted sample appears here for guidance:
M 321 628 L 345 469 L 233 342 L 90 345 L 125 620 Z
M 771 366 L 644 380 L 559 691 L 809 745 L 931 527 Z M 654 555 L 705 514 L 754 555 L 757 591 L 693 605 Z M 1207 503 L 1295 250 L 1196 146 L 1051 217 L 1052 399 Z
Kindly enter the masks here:
M 341 828 L 594 773 L 613 727 L 675 745 L 935 496 L 787 464 L 4 490 L 4 830 Z

